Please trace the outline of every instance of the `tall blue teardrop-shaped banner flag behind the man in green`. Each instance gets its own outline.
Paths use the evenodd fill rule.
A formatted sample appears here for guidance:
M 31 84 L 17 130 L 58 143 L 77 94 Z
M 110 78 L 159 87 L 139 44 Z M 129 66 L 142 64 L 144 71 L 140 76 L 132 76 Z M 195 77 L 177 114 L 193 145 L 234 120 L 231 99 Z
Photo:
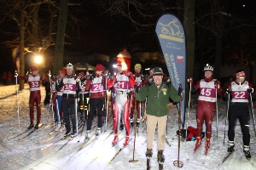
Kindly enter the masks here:
M 172 84 L 178 89 L 181 84 L 185 93 L 186 87 L 186 42 L 183 26 L 176 16 L 163 14 L 157 21 L 155 32 L 166 60 L 166 67 Z M 181 104 L 181 120 L 185 121 L 185 96 Z M 178 107 L 177 107 L 178 108 Z

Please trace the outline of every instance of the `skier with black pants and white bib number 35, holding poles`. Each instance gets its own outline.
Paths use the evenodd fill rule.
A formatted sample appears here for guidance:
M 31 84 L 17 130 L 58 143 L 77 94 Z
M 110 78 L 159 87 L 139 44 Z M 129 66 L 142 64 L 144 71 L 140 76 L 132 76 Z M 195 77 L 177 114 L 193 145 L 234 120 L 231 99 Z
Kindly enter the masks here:
M 66 66 L 67 75 L 64 77 L 60 84 L 56 87 L 57 90 L 62 91 L 62 111 L 64 113 L 64 122 L 66 127 L 66 133 L 64 136 L 70 135 L 72 138 L 78 135 L 77 121 L 76 121 L 76 98 L 78 97 L 80 89 L 80 81 L 77 81 L 73 73 L 73 65 L 71 63 Z M 70 118 L 73 125 L 73 131 L 71 133 Z

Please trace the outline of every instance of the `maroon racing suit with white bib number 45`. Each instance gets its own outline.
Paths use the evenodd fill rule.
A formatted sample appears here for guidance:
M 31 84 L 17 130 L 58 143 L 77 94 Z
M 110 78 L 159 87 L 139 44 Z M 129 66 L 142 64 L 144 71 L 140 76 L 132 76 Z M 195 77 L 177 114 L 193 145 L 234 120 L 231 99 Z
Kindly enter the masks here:
M 218 82 L 218 80 L 210 77 L 201 79 L 195 84 L 195 89 L 200 89 L 200 94 L 196 106 L 198 137 L 201 137 L 202 125 L 204 121 L 206 122 L 207 127 L 207 139 L 210 139 L 212 136 L 212 120 L 215 111 L 216 93 L 218 95 L 222 95 L 222 88 L 215 88 L 215 82 Z

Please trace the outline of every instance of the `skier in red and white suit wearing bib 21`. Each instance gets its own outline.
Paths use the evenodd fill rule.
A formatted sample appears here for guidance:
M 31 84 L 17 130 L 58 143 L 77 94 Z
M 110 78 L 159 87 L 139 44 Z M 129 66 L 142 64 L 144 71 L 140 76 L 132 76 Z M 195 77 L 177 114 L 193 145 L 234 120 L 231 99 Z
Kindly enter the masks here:
M 114 101 L 114 112 L 113 112 L 113 133 L 114 138 L 112 144 L 116 144 L 119 140 L 118 127 L 120 123 L 120 117 L 122 122 L 125 124 L 126 136 L 124 145 L 129 143 L 130 138 L 130 99 L 131 93 L 135 81 L 131 71 L 123 71 L 122 65 L 119 60 L 116 61 L 116 75 L 112 80 L 108 79 L 108 88 L 116 86 L 116 97 Z

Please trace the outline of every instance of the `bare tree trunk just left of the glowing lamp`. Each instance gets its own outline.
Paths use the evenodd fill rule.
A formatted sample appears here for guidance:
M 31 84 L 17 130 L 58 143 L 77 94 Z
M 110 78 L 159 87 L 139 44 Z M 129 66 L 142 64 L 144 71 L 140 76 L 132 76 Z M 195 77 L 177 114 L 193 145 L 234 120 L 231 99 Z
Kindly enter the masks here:
M 24 59 L 24 35 L 25 35 L 25 23 L 24 23 L 24 0 L 20 2 L 20 76 L 25 75 L 25 59 Z M 24 80 L 20 80 L 20 90 L 24 89 Z

